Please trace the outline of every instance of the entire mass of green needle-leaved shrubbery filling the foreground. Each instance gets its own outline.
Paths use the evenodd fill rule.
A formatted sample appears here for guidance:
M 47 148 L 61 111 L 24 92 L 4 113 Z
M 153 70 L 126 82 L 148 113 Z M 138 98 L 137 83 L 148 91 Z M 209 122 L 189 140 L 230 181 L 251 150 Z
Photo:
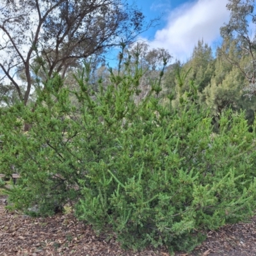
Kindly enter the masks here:
M 84 63 L 79 89 L 68 90 L 56 74 L 38 87 L 35 104 L 0 109 L 0 172 L 12 165 L 21 177 L 7 191 L 12 207 L 47 216 L 69 203 L 79 220 L 125 248 L 170 252 L 189 252 L 205 230 L 252 216 L 255 131 L 244 113 L 223 113 L 214 134 L 193 81 L 173 109 L 161 104 L 163 71 L 140 102 L 139 61 L 122 64 L 121 53 L 118 73 L 109 72 L 111 84 L 99 81 L 95 92 Z M 179 71 L 180 87 L 185 77 Z

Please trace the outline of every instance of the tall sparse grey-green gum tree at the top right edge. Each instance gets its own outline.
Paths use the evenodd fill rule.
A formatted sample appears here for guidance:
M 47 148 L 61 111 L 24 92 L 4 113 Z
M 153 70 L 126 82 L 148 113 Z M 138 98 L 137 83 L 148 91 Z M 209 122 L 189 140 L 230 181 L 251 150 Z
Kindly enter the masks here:
M 222 51 L 223 56 L 234 66 L 239 68 L 246 77 L 245 90 L 248 96 L 256 92 L 256 13 L 254 0 L 228 0 L 230 20 L 221 27 L 221 36 L 227 42 L 234 42 L 241 52 L 241 58 L 246 58 L 246 65 L 241 65 L 235 58 Z

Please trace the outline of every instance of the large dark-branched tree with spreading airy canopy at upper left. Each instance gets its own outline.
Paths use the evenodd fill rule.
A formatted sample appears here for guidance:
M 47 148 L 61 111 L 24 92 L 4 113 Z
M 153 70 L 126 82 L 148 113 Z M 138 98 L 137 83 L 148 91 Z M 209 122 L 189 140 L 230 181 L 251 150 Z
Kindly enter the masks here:
M 68 67 L 82 58 L 120 44 L 131 43 L 136 36 L 155 24 L 143 22 L 136 6 L 120 0 L 31 0 L 0 1 L 0 68 L 15 86 L 26 105 L 31 92 L 31 59 L 36 70 L 47 67 L 65 77 Z M 15 77 L 24 69 L 26 91 L 22 93 Z

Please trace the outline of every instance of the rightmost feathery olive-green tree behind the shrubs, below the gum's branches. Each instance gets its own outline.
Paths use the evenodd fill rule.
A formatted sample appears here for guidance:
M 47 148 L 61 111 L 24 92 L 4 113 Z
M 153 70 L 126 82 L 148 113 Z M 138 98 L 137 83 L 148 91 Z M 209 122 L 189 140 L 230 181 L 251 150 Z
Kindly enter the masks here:
M 217 49 L 216 60 L 214 61 L 214 73 L 211 82 L 200 93 L 200 104 L 211 109 L 213 121 L 218 124 L 220 117 L 226 109 L 233 111 L 245 111 L 249 124 L 253 123 L 256 110 L 256 99 L 248 100 L 244 97 L 243 87 L 246 77 L 239 68 L 232 65 L 226 56 L 236 60 L 239 67 L 244 67 L 248 59 L 243 56 L 234 42 L 223 41 L 221 47 Z

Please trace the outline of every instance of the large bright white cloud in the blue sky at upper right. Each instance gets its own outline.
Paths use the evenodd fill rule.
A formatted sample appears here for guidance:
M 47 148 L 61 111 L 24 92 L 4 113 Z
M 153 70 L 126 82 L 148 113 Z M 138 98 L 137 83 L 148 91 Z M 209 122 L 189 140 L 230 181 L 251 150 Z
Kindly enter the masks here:
M 197 44 L 212 45 L 220 36 L 220 27 L 228 22 L 228 0 L 197 0 L 182 4 L 168 15 L 165 28 L 157 30 L 150 46 L 168 49 L 174 58 L 186 61 Z

